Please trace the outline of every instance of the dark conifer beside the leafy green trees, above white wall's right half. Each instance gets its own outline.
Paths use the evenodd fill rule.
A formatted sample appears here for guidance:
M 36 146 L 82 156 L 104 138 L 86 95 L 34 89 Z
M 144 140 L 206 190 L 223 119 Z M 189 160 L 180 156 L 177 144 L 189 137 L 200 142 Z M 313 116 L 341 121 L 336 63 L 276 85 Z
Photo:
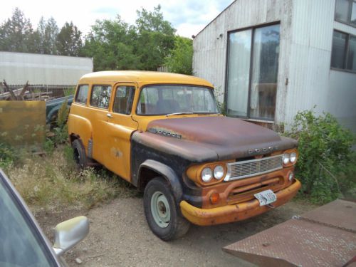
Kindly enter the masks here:
M 66 22 L 57 36 L 57 50 L 59 55 L 78 56 L 82 48 L 81 32 L 73 22 Z

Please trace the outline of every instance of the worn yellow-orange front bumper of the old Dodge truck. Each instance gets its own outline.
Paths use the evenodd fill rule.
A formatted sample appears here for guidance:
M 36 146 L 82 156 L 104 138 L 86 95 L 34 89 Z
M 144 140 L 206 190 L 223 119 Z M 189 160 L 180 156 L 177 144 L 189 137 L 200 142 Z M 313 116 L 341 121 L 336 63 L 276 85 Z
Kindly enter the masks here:
M 272 203 L 273 207 L 286 204 L 297 194 L 300 187 L 300 182 L 295 179 L 289 187 L 276 192 L 277 200 Z M 180 202 L 180 208 L 183 216 L 188 221 L 200 226 L 242 221 L 271 209 L 269 206 L 260 206 L 257 199 L 234 205 L 219 206 L 213 209 L 199 209 L 183 200 Z

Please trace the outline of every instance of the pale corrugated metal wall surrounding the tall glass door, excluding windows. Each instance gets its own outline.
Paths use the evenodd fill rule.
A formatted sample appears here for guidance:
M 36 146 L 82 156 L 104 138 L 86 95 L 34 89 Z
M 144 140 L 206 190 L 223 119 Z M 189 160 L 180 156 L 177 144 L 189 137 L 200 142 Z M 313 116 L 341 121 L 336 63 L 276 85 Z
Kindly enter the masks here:
M 316 105 L 356 132 L 356 74 L 330 70 L 333 30 L 356 28 L 334 21 L 334 12 L 335 0 L 236 0 L 194 38 L 194 75 L 224 92 L 228 32 L 280 21 L 275 122 Z

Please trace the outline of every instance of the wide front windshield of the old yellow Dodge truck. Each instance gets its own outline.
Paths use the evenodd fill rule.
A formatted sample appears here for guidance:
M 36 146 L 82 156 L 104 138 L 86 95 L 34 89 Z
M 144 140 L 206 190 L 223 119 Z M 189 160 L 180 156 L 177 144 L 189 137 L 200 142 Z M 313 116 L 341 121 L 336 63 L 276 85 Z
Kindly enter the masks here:
M 182 113 L 219 113 L 213 90 L 192 85 L 150 85 L 141 90 L 137 115 Z

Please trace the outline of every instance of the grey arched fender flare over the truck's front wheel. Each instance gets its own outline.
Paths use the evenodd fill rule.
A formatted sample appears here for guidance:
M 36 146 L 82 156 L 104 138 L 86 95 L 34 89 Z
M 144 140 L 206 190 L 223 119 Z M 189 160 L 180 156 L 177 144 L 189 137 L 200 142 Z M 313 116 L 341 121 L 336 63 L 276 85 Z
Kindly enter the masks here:
M 177 199 L 177 203 L 179 203 L 179 201 L 182 199 L 182 194 L 183 194 L 182 184 L 179 181 L 179 177 L 171 167 L 167 166 L 166 164 L 162 164 L 161 162 L 157 162 L 153 159 L 146 159 L 145 162 L 143 162 L 140 165 L 140 168 L 138 169 L 137 185 L 140 184 L 140 179 L 141 179 L 140 173 L 142 167 L 146 167 L 147 169 L 152 169 L 152 171 L 158 172 L 159 174 L 162 175 L 162 177 L 164 177 L 164 179 L 167 179 L 167 182 L 169 182 L 169 184 L 172 187 L 174 198 Z

